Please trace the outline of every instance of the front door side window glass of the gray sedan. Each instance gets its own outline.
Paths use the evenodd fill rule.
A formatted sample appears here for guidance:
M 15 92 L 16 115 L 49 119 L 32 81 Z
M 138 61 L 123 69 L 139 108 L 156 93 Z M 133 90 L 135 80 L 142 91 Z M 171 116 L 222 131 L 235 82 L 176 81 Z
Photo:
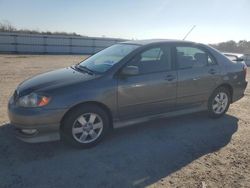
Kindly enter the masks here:
M 149 74 L 171 70 L 170 47 L 153 47 L 137 54 L 129 63 L 137 66 L 139 74 Z

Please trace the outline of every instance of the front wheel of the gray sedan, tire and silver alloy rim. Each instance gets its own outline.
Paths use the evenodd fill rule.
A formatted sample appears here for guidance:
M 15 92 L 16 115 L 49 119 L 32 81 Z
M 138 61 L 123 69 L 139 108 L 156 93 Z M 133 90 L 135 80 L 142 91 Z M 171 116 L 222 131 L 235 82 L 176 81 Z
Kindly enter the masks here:
M 61 138 L 80 148 L 97 145 L 109 132 L 110 119 L 97 105 L 76 107 L 63 119 Z

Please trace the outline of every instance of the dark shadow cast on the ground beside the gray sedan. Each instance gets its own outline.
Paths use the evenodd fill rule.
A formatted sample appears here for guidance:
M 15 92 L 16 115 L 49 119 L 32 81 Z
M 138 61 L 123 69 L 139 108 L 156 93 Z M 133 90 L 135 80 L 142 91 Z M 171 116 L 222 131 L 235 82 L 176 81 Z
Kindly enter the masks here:
M 205 113 L 115 130 L 98 146 L 27 144 L 0 127 L 0 187 L 145 187 L 226 146 L 238 119 Z

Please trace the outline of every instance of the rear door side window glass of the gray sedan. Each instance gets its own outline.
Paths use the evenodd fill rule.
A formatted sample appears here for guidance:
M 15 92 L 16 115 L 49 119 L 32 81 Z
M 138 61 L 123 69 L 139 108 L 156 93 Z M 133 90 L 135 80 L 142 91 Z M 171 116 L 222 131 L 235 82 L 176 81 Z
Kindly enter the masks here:
M 196 47 L 176 47 L 176 52 L 179 69 L 205 67 L 216 64 L 208 53 Z

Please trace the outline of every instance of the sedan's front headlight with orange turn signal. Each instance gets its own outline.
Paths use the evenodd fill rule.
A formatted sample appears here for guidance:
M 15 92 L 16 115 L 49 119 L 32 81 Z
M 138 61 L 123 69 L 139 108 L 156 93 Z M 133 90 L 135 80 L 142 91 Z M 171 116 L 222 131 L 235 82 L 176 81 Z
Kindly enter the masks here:
M 42 107 L 46 106 L 50 102 L 50 97 L 42 96 L 36 93 L 31 93 L 20 97 L 17 100 L 17 105 L 22 107 Z

